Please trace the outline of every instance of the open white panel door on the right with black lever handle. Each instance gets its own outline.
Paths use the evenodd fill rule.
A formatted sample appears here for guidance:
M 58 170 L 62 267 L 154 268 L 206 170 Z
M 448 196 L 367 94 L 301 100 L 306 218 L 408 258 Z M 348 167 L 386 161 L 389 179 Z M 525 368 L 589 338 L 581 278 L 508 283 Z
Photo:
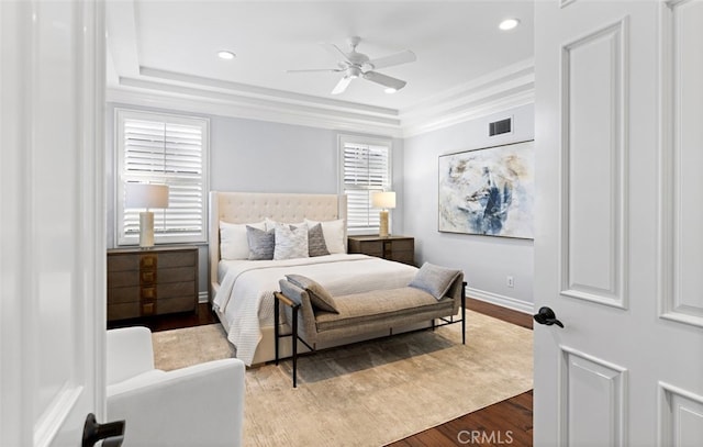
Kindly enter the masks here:
M 535 2 L 535 446 L 703 446 L 703 2 Z

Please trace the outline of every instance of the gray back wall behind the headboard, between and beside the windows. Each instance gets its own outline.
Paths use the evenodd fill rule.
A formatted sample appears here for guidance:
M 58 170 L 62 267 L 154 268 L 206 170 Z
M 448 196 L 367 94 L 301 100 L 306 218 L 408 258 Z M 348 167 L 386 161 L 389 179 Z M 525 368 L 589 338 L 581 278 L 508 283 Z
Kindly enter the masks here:
M 316 127 L 270 123 L 227 116 L 108 103 L 107 203 L 108 247 L 115 246 L 114 232 L 114 109 L 152 110 L 210 119 L 210 190 L 249 192 L 337 193 L 337 132 Z M 377 135 L 373 135 L 377 136 Z M 393 138 L 394 190 L 402 206 L 403 141 Z M 401 213 L 393 215 L 393 232 L 402 232 Z M 208 246 L 200 247 L 201 295 L 208 291 Z

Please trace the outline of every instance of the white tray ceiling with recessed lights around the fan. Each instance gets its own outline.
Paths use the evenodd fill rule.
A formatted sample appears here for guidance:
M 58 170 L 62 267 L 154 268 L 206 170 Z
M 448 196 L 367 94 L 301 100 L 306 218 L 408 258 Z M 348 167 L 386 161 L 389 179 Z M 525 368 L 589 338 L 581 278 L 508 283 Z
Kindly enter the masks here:
M 521 25 L 500 31 L 506 18 Z M 310 116 L 334 112 L 347 121 L 375 116 L 381 126 L 400 126 L 404 115 L 410 120 L 439 103 L 456 108 L 451 101 L 459 96 L 476 102 L 477 89 L 510 90 L 534 81 L 531 0 L 109 0 L 107 22 L 113 100 L 125 98 L 120 91 L 153 92 L 259 113 L 282 104 L 279 114 L 294 108 Z M 341 74 L 286 72 L 336 67 L 338 58 L 320 43 L 346 51 L 353 35 L 361 37 L 357 51 L 370 58 L 413 51 L 416 62 L 378 70 L 406 87 L 387 94 L 381 86 L 356 79 L 332 96 Z M 220 59 L 220 49 L 236 58 Z M 499 81 L 500 88 L 492 85 Z

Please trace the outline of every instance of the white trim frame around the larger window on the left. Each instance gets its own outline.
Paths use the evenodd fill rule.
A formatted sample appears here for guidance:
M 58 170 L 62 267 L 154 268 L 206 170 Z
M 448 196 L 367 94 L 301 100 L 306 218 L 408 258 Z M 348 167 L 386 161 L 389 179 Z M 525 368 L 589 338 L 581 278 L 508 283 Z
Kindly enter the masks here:
M 114 166 L 115 166 L 115 175 L 114 175 L 114 241 L 116 246 L 134 246 L 138 245 L 140 238 L 138 236 L 124 236 L 122 232 L 122 222 L 124 219 L 124 203 L 122 202 L 122 198 L 124 198 L 124 138 L 123 138 L 123 126 L 121 121 L 124 119 L 137 119 L 137 120 L 164 120 L 170 123 L 177 124 L 187 124 L 194 125 L 199 123 L 202 127 L 202 230 L 200 235 L 198 236 L 164 236 L 164 235 L 155 235 L 155 244 L 164 245 L 164 244 L 204 244 L 208 242 L 208 195 L 210 191 L 210 120 L 203 116 L 192 116 L 192 115 L 178 115 L 178 114 L 168 114 L 161 112 L 150 112 L 150 111 L 141 111 L 133 109 L 114 109 Z

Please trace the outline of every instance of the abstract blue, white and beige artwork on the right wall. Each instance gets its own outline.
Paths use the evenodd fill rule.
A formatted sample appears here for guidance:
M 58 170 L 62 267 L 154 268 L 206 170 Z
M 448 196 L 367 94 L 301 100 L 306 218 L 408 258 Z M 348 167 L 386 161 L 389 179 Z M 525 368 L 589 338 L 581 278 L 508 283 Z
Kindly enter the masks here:
M 534 145 L 440 155 L 438 230 L 532 239 Z

